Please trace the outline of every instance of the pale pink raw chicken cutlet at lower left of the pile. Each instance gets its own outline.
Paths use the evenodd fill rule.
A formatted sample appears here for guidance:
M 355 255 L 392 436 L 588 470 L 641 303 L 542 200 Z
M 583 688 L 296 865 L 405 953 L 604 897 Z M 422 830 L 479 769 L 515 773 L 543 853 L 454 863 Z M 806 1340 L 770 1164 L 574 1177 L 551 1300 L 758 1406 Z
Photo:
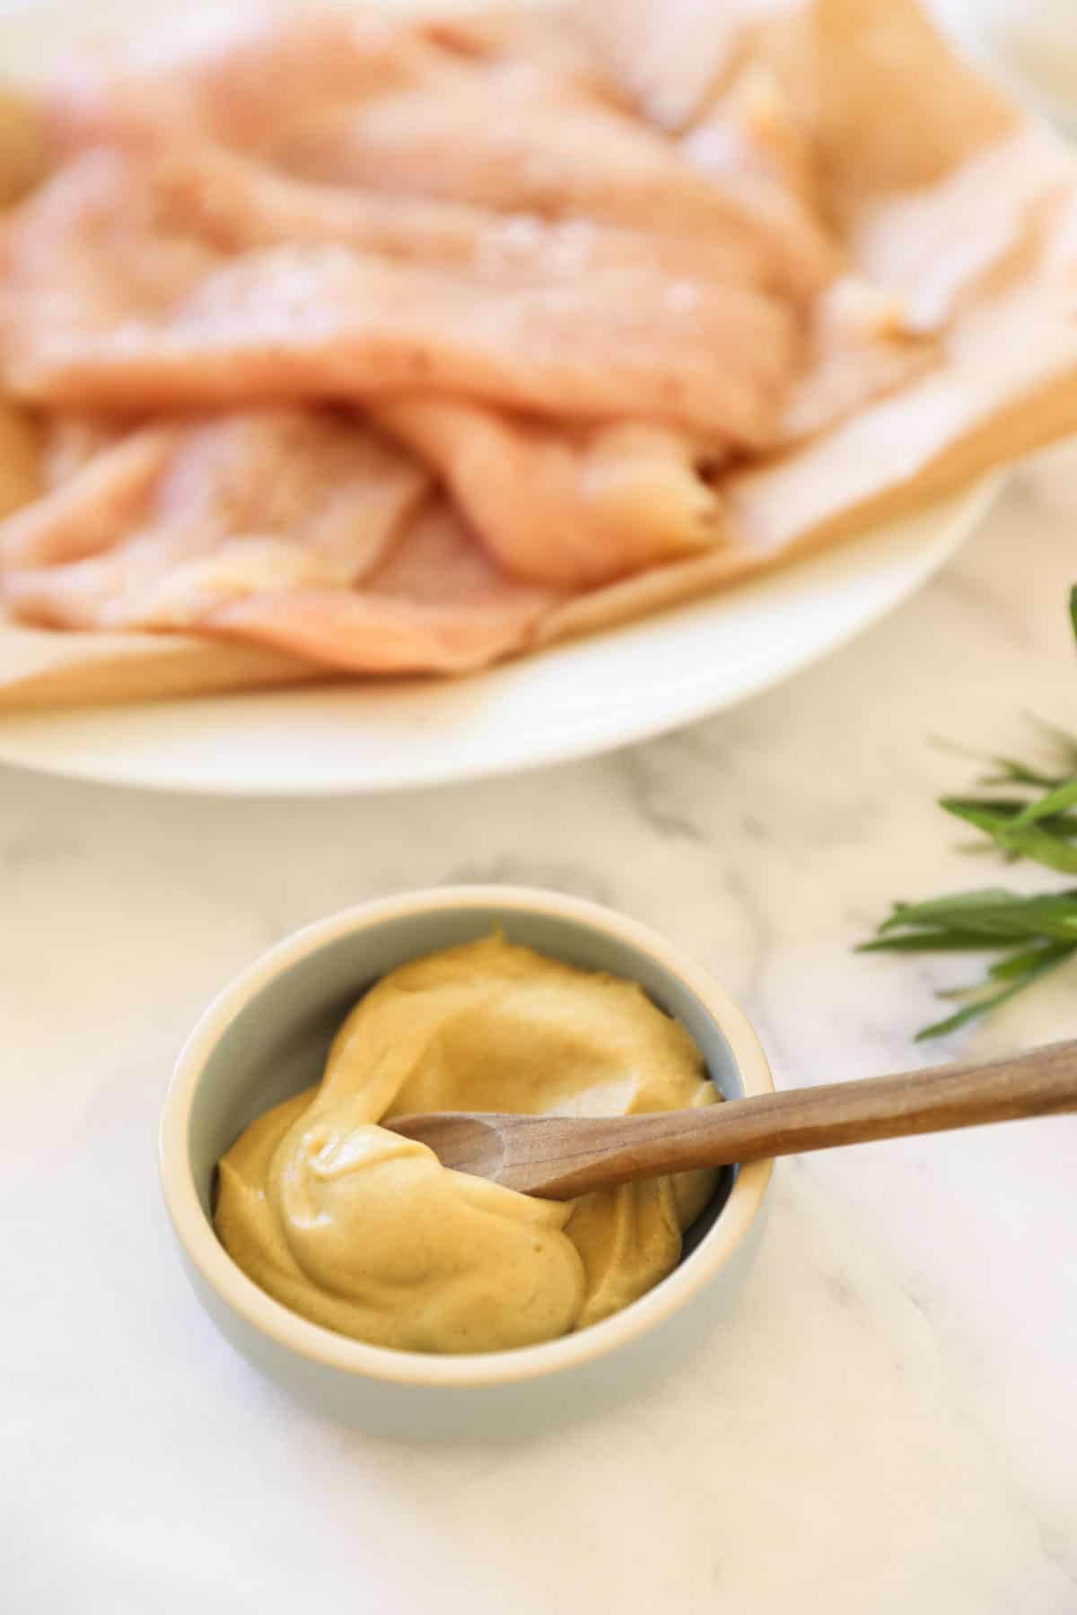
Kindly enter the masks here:
M 358 672 L 481 665 L 551 596 L 428 486 L 331 410 L 149 426 L 0 523 L 3 599 L 32 623 L 199 628 Z

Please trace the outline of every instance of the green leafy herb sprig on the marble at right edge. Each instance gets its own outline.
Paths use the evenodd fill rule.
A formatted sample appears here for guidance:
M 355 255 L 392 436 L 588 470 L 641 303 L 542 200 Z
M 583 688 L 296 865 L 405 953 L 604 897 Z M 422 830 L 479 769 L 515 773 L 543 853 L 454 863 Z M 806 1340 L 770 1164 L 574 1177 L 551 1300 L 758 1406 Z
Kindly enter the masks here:
M 1077 586 L 1069 594 L 1077 635 Z M 1012 757 L 988 757 L 990 772 L 977 783 L 1003 796 L 943 796 L 940 808 L 983 838 L 974 849 L 993 849 L 1008 862 L 1019 858 L 1077 875 L 1077 736 L 1043 725 L 1053 767 Z M 1024 992 L 1077 951 L 1077 887 L 1025 896 L 1003 887 L 961 891 L 927 903 L 896 903 L 861 953 L 996 953 L 980 982 L 941 992 L 961 1008 L 917 1032 L 917 1042 L 956 1032 Z

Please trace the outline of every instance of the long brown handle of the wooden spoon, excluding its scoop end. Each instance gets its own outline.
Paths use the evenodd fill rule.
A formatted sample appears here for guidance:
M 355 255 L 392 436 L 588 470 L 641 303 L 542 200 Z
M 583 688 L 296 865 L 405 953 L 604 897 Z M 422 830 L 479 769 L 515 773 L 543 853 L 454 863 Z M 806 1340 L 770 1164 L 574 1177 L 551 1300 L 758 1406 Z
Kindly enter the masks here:
M 698 1111 L 573 1122 L 559 1198 L 633 1177 L 1077 1111 L 1077 1040 L 977 1066 L 765 1093 Z M 586 1140 L 586 1142 L 585 1142 Z M 523 1153 L 523 1151 L 522 1151 Z M 538 1163 L 536 1163 L 538 1164 Z

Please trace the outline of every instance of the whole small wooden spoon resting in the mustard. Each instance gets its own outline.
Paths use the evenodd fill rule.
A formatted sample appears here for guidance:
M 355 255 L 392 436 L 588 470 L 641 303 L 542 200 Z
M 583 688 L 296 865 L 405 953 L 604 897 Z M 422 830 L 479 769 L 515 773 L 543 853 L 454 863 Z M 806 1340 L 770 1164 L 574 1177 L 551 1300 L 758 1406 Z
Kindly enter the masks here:
M 1077 1111 L 1077 1040 L 990 1064 L 830 1082 L 689 1111 L 614 1118 L 436 1111 L 394 1116 L 383 1126 L 418 1139 L 457 1172 L 547 1200 L 572 1200 L 696 1166 L 1061 1111 Z

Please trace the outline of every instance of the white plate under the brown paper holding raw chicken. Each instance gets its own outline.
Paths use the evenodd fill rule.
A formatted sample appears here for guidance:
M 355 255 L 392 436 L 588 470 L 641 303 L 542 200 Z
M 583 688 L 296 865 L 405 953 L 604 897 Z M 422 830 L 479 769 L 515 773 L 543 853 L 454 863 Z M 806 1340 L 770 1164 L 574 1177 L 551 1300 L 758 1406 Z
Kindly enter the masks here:
M 26 712 L 0 720 L 0 761 L 158 790 L 321 796 L 609 751 L 733 706 L 877 622 L 953 556 L 999 481 L 773 578 L 488 673 Z

